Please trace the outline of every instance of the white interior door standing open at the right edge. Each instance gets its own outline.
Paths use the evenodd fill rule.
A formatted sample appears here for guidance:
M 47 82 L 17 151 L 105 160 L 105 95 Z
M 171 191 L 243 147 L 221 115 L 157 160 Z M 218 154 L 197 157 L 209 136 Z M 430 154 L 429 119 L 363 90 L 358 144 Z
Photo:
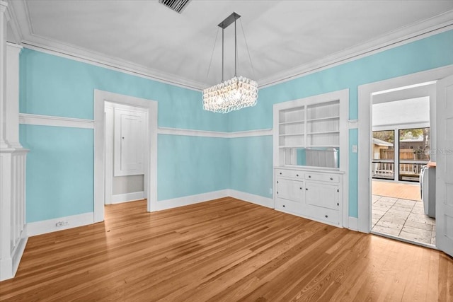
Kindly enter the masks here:
M 437 82 L 436 245 L 453 256 L 453 76 Z

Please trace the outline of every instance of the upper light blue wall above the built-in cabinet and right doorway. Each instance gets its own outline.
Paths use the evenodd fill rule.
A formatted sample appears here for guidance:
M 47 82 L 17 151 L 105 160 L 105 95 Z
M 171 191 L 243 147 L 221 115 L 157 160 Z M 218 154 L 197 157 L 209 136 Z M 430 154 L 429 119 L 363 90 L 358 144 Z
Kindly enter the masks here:
M 260 89 L 253 108 L 229 113 L 229 131 L 270 129 L 272 105 L 349 88 L 349 116 L 357 119 L 357 88 L 365 83 L 453 64 L 453 30 Z

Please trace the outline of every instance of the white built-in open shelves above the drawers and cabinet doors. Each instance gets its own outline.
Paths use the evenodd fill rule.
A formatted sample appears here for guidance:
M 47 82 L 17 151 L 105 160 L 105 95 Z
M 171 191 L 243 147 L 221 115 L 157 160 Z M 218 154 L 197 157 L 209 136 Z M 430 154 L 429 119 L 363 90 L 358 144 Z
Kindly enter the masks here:
M 344 100 L 340 105 L 340 98 L 332 95 L 341 95 L 341 93 L 327 93 L 274 105 L 274 144 L 277 165 L 311 166 L 311 160 L 314 160 L 316 161 L 314 166 L 319 166 L 319 161 L 316 160 L 317 153 L 320 158 L 326 158 L 326 161 L 329 161 L 329 156 L 336 158 L 335 161 L 326 163 L 328 165 L 332 162 L 338 163 L 338 151 L 340 145 L 343 146 L 341 137 L 348 134 L 344 132 L 344 124 L 348 120 L 348 107 L 343 105 Z M 343 146 L 343 148 L 346 150 L 348 147 Z M 337 164 L 331 168 L 339 167 Z

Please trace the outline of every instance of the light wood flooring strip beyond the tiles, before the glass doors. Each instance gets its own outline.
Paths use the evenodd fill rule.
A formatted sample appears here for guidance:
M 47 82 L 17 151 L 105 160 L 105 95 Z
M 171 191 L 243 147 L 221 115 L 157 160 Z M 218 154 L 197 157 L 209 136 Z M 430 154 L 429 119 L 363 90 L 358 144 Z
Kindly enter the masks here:
M 420 202 L 420 184 L 407 184 L 401 182 L 373 181 L 373 195 L 411 199 Z

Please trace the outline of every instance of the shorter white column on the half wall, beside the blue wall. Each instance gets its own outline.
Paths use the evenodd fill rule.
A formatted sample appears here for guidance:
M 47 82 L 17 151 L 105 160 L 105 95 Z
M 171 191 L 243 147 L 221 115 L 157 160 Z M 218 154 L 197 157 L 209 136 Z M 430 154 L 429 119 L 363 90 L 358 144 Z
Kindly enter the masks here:
M 19 143 L 19 54 L 20 45 L 6 45 L 6 138 L 11 147 L 21 149 Z

